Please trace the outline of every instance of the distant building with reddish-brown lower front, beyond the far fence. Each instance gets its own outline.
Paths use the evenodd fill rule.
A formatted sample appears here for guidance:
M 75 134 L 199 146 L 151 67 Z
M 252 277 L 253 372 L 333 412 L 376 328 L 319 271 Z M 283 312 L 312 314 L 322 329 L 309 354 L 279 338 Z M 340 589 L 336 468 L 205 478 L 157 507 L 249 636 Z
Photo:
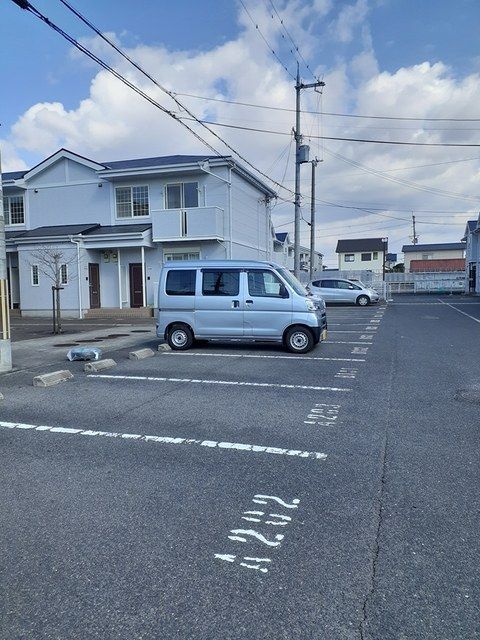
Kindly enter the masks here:
M 463 271 L 465 243 L 409 244 L 402 247 L 405 273 L 410 271 Z M 463 266 L 462 266 L 463 264 Z

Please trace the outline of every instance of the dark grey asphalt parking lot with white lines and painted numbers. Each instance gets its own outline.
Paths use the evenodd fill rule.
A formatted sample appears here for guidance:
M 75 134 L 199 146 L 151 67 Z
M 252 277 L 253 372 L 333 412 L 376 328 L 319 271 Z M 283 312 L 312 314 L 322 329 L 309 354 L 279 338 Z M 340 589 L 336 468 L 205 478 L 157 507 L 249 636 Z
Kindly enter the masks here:
M 328 323 L 0 378 L 0 637 L 480 637 L 480 303 Z

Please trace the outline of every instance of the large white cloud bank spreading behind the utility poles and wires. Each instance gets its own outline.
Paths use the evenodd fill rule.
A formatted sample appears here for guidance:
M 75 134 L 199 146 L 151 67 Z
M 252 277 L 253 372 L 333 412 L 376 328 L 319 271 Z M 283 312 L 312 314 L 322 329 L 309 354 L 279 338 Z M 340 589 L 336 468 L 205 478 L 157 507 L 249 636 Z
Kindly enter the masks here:
M 313 4 L 306 4 L 296 0 L 284 4 L 283 7 L 280 3 L 277 6 L 302 53 L 308 57 L 307 51 L 315 51 L 316 36 L 312 24 L 323 16 L 325 30 L 328 30 L 329 17 L 325 19 L 325 16 L 331 11 L 331 3 L 317 0 Z M 292 63 L 293 58 L 280 37 L 278 21 L 275 22 L 265 10 L 265 6 L 260 3 L 252 4 L 251 12 L 279 55 Z M 342 59 L 332 67 L 322 69 L 326 82 L 323 97 L 325 111 L 416 115 L 421 118 L 451 115 L 476 117 L 477 105 L 480 104 L 478 74 L 455 77 L 442 63 L 430 64 L 423 61 L 408 68 L 398 69 L 395 73 L 379 70 L 366 23 L 367 12 L 367 3 L 359 0 L 344 7 L 337 16 L 335 25 L 338 38 L 347 42 L 356 30 L 359 38 L 355 40 L 356 51 L 351 59 Z M 276 63 L 245 13 L 239 14 L 239 22 L 241 31 L 236 39 L 209 51 L 168 51 L 164 47 L 140 44 L 130 49 L 129 54 L 146 70 L 161 79 L 164 86 L 179 93 L 227 97 L 231 100 L 292 109 L 292 79 Z M 95 47 L 103 56 L 107 53 L 105 45 L 97 40 L 90 39 L 89 46 Z M 114 60 L 119 71 L 166 107 L 178 112 L 178 107 L 160 89 L 131 69 L 126 61 L 119 60 L 117 54 L 108 55 L 109 61 Z M 54 95 L 54 86 L 51 87 L 51 91 Z M 294 114 L 289 112 L 251 109 L 186 96 L 181 96 L 180 99 L 200 117 L 228 124 L 290 132 L 294 123 Z M 319 96 L 313 91 L 302 92 L 302 106 L 305 109 L 315 110 L 318 101 Z M 204 129 L 190 122 L 188 124 L 222 153 L 228 153 L 228 150 Z M 478 132 L 472 131 L 475 127 L 474 123 L 455 125 L 415 121 L 389 122 L 331 116 L 324 116 L 320 122 L 318 118 L 308 115 L 302 120 L 306 141 L 308 135 L 323 133 L 326 136 L 341 138 L 468 142 L 478 140 Z M 292 152 L 288 166 L 286 164 L 290 143 L 288 136 L 270 136 L 223 128 L 216 128 L 215 131 L 256 166 L 268 170 L 269 175 L 277 180 L 281 180 L 285 174 L 285 184 L 293 188 Z M 476 217 L 476 202 L 449 198 L 430 189 L 469 196 L 478 195 L 478 160 L 440 164 L 478 157 L 480 152 L 475 149 L 325 141 L 326 150 L 333 150 L 347 159 L 384 171 L 391 178 L 425 185 L 427 190 L 421 191 L 401 182 L 387 181 L 372 175 L 328 155 L 327 152 L 323 154 L 322 144 L 313 138 L 310 143 L 312 155 L 324 158 L 324 162 L 320 163 L 317 169 L 319 199 L 346 206 L 379 209 L 378 212 L 368 213 L 358 209 L 341 209 L 318 204 L 318 246 L 326 253 L 330 265 L 334 264 L 334 249 L 339 237 L 388 235 L 391 239 L 391 249 L 399 251 L 401 245 L 409 241 L 411 210 L 418 211 L 417 230 L 422 242 L 457 241 L 461 237 L 463 222 L 469 216 L 463 213 L 449 215 L 443 213 L 444 211 L 470 211 L 470 217 Z M 55 100 L 32 105 L 19 116 L 2 147 L 4 170 L 25 167 L 21 160 L 21 150 L 29 154 L 37 153 L 41 159 L 59 147 L 67 147 L 100 162 L 205 151 L 205 147 L 178 123 L 160 113 L 103 70 L 94 75 L 89 95 L 73 109 L 69 110 Z M 407 169 L 400 171 L 403 167 Z M 307 219 L 310 208 L 307 195 L 309 176 L 309 167 L 302 167 L 302 191 L 305 194 L 303 214 Z M 284 198 L 291 199 L 287 192 L 279 193 Z M 420 213 L 419 210 L 433 213 Z M 279 201 L 274 209 L 274 218 L 278 225 L 290 223 L 293 220 L 293 206 Z M 460 224 L 426 225 L 423 224 L 424 221 Z M 282 229 L 291 230 L 292 226 L 284 226 Z M 303 226 L 302 233 L 302 242 L 306 244 L 306 225 Z

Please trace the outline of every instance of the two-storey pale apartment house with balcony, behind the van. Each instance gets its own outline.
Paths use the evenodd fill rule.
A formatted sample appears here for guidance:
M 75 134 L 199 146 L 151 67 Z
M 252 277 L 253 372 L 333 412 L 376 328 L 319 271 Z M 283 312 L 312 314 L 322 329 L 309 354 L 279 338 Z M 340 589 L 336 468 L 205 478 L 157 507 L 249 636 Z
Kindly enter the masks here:
M 99 163 L 61 149 L 3 175 L 11 306 L 51 311 L 34 254 L 62 254 L 62 309 L 152 307 L 162 263 L 271 259 L 275 192 L 231 157 Z M 97 312 L 98 313 L 98 312 Z

